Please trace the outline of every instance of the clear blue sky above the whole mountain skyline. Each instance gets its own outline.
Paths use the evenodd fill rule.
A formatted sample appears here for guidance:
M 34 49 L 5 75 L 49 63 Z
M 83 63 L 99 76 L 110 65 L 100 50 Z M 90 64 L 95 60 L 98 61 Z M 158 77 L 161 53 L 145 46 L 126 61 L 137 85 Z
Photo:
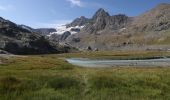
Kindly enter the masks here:
M 0 0 L 0 16 L 33 28 L 56 27 L 104 8 L 111 15 L 137 16 L 170 0 Z

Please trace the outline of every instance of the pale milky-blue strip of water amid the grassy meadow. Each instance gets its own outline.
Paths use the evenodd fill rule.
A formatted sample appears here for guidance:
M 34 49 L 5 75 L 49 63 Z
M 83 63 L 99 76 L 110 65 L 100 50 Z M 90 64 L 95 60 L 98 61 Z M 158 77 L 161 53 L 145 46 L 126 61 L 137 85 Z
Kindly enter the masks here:
M 91 68 L 102 67 L 168 67 L 170 58 L 144 59 L 144 60 L 108 60 L 88 58 L 68 58 L 66 61 L 72 65 Z

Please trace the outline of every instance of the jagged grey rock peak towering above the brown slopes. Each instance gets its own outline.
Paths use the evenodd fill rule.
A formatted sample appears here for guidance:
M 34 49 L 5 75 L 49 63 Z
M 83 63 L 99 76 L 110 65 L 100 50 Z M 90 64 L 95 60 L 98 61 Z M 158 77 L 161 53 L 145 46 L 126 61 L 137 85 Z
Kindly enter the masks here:
M 129 21 L 130 18 L 126 15 L 110 16 L 108 12 L 100 8 L 92 17 L 91 22 L 86 25 L 84 31 L 87 33 L 97 33 L 101 30 L 119 30 L 124 28 Z

